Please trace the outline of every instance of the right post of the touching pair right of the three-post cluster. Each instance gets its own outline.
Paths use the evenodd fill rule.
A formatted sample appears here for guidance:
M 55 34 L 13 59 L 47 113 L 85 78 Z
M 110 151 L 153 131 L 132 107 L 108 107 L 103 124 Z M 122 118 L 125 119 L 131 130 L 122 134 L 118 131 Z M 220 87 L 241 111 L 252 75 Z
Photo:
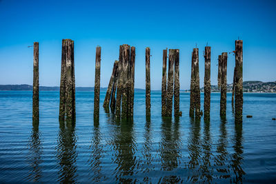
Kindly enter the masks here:
M 200 118 L 200 87 L 199 87 L 199 52 L 198 48 L 194 48 L 195 63 L 195 118 Z

